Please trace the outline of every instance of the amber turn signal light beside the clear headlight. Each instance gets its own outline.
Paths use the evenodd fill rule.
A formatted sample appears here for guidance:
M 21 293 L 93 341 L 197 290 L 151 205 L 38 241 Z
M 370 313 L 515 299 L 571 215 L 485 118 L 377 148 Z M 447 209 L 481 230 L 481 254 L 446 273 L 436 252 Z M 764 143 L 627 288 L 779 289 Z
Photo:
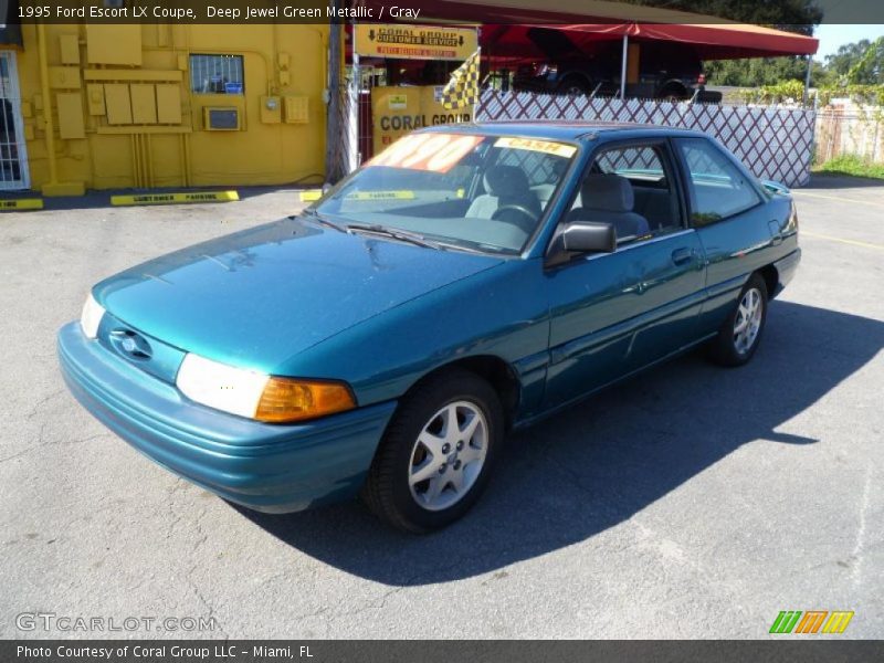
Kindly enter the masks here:
M 291 423 L 352 410 L 355 407 L 356 399 L 346 385 L 271 377 L 254 418 L 269 423 Z

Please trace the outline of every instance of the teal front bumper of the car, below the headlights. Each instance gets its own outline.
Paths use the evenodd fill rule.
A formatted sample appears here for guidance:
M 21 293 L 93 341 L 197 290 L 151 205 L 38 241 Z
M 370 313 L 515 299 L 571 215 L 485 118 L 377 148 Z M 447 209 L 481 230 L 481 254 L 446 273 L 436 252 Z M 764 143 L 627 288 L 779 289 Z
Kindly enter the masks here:
M 352 497 L 396 409 L 390 401 L 294 425 L 193 403 L 173 386 L 87 339 L 59 332 L 62 375 L 76 399 L 135 449 L 224 499 L 266 513 Z

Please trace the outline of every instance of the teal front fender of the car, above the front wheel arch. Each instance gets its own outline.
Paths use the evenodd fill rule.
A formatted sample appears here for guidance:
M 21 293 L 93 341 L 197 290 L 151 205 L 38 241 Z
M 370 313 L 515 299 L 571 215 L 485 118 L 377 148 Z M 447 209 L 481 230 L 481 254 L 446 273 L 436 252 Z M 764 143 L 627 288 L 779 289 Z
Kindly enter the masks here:
M 284 375 L 343 379 L 360 406 L 401 397 L 427 373 L 474 356 L 513 367 L 532 410 L 543 394 L 549 312 L 540 259 L 514 259 L 438 288 L 290 358 Z

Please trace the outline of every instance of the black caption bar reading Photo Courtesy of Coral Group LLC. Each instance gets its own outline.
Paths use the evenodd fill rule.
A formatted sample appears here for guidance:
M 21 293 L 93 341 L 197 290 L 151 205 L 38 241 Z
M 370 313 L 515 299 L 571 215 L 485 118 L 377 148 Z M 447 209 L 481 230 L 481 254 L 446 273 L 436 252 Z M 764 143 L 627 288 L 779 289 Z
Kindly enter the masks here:
M 823 636 L 825 638 L 825 636 Z M 884 660 L 882 640 L 4 640 L 3 663 L 854 663 Z

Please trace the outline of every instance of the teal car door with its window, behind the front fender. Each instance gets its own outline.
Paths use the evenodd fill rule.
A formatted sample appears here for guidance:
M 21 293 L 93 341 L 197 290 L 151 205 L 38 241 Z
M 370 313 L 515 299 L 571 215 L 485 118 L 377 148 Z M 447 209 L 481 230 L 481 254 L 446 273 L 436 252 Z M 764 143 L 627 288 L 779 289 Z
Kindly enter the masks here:
M 696 337 L 705 260 L 696 231 L 686 224 L 685 196 L 669 141 L 600 147 L 562 224 L 592 221 L 593 206 L 611 208 L 611 201 L 603 201 L 590 186 L 590 178 L 599 176 L 625 179 L 632 200 L 624 206 L 631 203 L 627 207 L 652 219 L 639 236 L 619 236 L 613 253 L 580 255 L 546 270 L 547 409 L 652 364 Z M 644 228 L 641 219 L 635 222 Z

